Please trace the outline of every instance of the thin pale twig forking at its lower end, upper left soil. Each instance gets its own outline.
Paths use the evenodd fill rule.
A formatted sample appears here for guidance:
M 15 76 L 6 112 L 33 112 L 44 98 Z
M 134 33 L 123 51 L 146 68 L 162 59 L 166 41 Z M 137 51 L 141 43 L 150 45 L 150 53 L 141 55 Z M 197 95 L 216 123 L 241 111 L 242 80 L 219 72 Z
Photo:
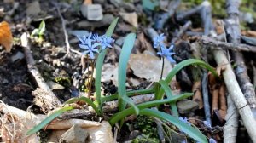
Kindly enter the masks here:
M 61 14 L 61 10 L 58 6 L 58 3 L 53 2 L 53 4 L 55 5 L 55 7 L 58 11 L 58 14 L 61 18 L 61 26 L 62 26 L 62 30 L 64 32 L 65 43 L 66 43 L 66 47 L 67 47 L 67 53 L 61 59 L 65 59 L 70 54 L 70 52 L 81 55 L 81 53 L 79 51 L 76 51 L 76 50 L 70 48 L 70 44 L 69 44 L 69 41 L 68 41 L 67 29 L 66 29 L 66 21 L 64 20 L 62 14 Z

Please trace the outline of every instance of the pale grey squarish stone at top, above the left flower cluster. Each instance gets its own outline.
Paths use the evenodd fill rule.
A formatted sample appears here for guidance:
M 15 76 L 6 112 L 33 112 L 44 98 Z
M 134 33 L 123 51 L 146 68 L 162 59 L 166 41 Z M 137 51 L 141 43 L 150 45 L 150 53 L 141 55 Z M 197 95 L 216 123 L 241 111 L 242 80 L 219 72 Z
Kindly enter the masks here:
M 103 19 L 102 5 L 101 4 L 83 4 L 81 12 L 88 20 L 99 21 Z

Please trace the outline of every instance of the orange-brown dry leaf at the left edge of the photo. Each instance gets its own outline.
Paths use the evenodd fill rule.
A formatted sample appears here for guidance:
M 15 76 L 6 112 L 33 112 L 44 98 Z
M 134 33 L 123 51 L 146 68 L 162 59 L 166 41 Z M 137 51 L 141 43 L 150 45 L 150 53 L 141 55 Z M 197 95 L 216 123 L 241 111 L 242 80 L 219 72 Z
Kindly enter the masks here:
M 13 36 L 9 24 L 5 21 L 0 23 L 0 44 L 7 52 L 10 52 L 13 44 Z

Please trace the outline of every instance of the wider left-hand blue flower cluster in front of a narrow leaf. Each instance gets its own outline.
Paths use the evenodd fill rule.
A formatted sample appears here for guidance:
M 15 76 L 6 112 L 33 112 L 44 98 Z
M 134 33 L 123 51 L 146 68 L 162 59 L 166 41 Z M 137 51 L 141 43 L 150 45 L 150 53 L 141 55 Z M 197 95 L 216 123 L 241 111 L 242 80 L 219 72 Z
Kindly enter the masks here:
M 78 36 L 77 36 L 78 37 Z M 95 59 L 94 54 L 99 53 L 99 47 L 103 49 L 112 48 L 111 43 L 114 42 L 113 38 L 107 37 L 106 35 L 99 36 L 98 34 L 92 34 L 88 37 L 78 37 L 79 47 L 84 49 L 82 54 L 89 54 L 90 59 Z

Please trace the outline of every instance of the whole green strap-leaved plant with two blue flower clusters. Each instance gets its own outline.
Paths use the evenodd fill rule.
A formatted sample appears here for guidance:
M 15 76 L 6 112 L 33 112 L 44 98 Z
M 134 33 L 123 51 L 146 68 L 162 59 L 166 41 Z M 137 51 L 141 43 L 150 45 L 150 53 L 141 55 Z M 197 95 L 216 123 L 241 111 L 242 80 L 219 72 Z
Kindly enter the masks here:
M 127 116 L 132 114 L 136 115 L 143 115 L 148 117 L 157 118 L 163 123 L 169 122 L 173 125 L 177 126 L 178 129 L 182 130 L 184 134 L 188 134 L 189 137 L 193 138 L 196 141 L 200 141 L 201 143 L 207 142 L 207 138 L 201 131 L 189 123 L 184 122 L 184 119 L 181 121 L 178 117 L 177 100 L 183 100 L 193 95 L 193 93 L 183 93 L 180 95 L 172 95 L 172 90 L 169 87 L 169 83 L 172 81 L 172 78 L 175 77 L 177 72 L 183 69 L 185 66 L 189 65 L 197 65 L 206 68 L 216 77 L 218 77 L 217 72 L 209 66 L 207 63 L 201 60 L 189 59 L 183 60 L 182 62 L 178 63 L 177 66 L 172 68 L 172 71 L 169 72 L 166 78 L 163 79 L 162 72 L 160 76 L 160 81 L 155 83 L 154 89 L 141 89 L 135 91 L 126 91 L 125 82 L 126 82 L 126 68 L 128 65 L 128 60 L 131 54 L 131 49 L 135 43 L 136 35 L 134 33 L 128 34 L 125 37 L 125 41 L 119 56 L 119 70 L 118 70 L 118 93 L 112 94 L 109 96 L 102 96 L 101 94 L 101 77 L 102 77 L 102 66 L 103 60 L 107 54 L 108 48 L 111 48 L 111 43 L 113 43 L 113 39 L 111 35 L 113 34 L 113 30 L 117 25 L 118 19 L 113 20 L 112 24 L 108 27 L 108 31 L 103 36 L 98 36 L 97 34 L 91 34 L 88 37 L 78 37 L 79 38 L 79 47 L 84 49 L 82 52 L 83 56 L 90 60 L 90 66 L 94 69 L 96 68 L 96 79 L 95 79 L 95 94 L 96 100 L 90 100 L 88 97 L 79 97 L 67 100 L 65 104 L 70 104 L 79 100 L 83 100 L 84 102 L 88 103 L 99 116 L 102 116 L 102 103 L 110 100 L 118 100 L 119 102 L 119 112 L 115 113 L 109 119 L 109 123 L 114 125 L 115 123 L 119 123 L 119 127 L 122 127 L 124 123 L 124 119 Z M 172 49 L 174 45 L 171 45 L 168 49 L 163 44 L 164 35 L 161 34 L 159 37 L 154 38 L 154 48 L 160 48 L 159 54 L 162 59 L 166 58 L 170 62 L 174 63 L 175 60 L 172 59 Z M 96 64 L 96 66 L 95 66 Z M 162 69 L 164 66 L 164 60 Z M 93 70 L 94 71 L 94 70 Z M 163 70 L 162 70 L 163 71 Z M 90 73 L 89 77 L 92 79 L 93 73 Z M 90 80 L 91 82 L 91 80 Z M 92 82 L 91 82 L 92 83 Z M 89 86 L 91 86 L 91 83 Z M 89 94 L 92 92 L 89 88 Z M 136 95 L 136 94 L 148 94 L 154 93 L 154 100 L 137 104 L 135 105 L 133 101 L 129 98 L 129 96 Z M 159 110 L 155 110 L 151 107 L 159 107 L 160 105 L 170 104 L 173 115 L 167 114 L 166 112 L 161 112 Z M 70 110 L 70 108 L 61 108 L 61 112 L 65 110 Z M 56 114 L 56 115 L 55 115 Z M 60 112 L 56 112 L 54 115 L 50 115 L 42 123 L 39 123 L 36 127 L 30 130 L 27 134 L 34 134 L 39 129 L 42 129 L 47 123 L 49 123 L 53 117 L 56 117 L 60 114 Z

